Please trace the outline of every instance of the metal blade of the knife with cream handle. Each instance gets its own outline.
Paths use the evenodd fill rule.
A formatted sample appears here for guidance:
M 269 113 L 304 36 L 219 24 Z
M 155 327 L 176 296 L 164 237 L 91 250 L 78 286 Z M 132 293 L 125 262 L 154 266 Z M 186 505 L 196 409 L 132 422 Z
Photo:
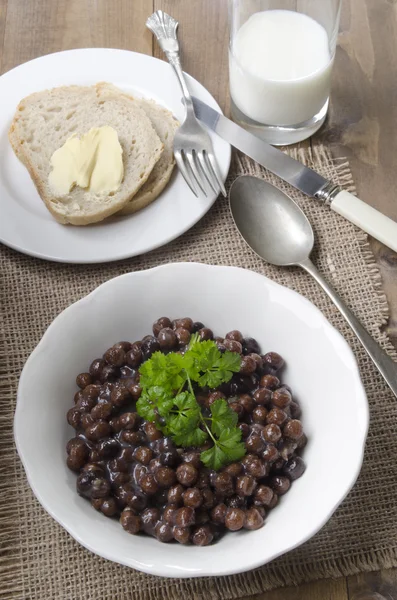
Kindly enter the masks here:
M 314 197 L 329 184 L 313 169 L 236 125 L 205 102 L 193 97 L 193 106 L 197 118 L 212 131 L 304 194 Z

